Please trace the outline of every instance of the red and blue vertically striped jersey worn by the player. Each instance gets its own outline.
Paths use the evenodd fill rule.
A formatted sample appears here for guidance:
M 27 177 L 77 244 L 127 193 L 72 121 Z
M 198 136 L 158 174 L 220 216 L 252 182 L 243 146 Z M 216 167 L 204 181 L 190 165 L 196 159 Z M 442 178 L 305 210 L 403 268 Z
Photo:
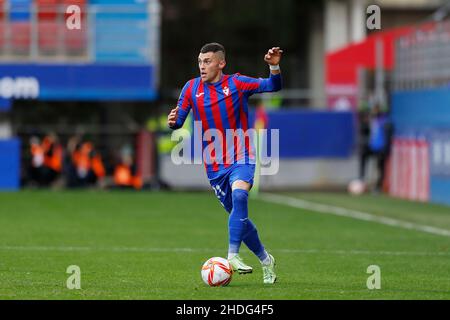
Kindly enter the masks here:
M 280 89 L 281 74 L 270 74 L 269 78 L 256 79 L 236 73 L 222 75 L 215 83 L 202 82 L 200 77 L 191 79 L 181 91 L 178 99 L 178 118 L 171 128 L 181 128 L 192 109 L 194 120 L 201 122 L 203 154 L 210 157 L 203 157 L 207 172 L 221 171 L 233 163 L 255 163 L 255 149 L 251 146 L 250 139 L 238 135 L 228 140 L 228 129 L 235 132 L 241 129 L 240 132 L 245 134 L 249 129 L 249 97 L 255 93 Z M 214 134 L 214 138 L 205 139 L 204 134 L 208 131 L 220 132 L 223 139 L 216 141 Z

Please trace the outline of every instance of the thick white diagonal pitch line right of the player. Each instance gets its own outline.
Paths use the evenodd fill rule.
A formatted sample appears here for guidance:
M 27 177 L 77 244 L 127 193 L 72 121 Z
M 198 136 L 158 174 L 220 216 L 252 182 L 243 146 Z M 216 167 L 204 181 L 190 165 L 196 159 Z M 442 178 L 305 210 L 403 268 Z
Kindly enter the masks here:
M 282 195 L 276 195 L 276 194 L 270 194 L 270 193 L 262 193 L 260 195 L 259 199 L 266 201 L 266 202 L 286 205 L 286 206 L 290 206 L 290 207 L 297 208 L 297 209 L 305 209 L 305 210 L 315 211 L 315 212 L 319 212 L 319 213 L 333 214 L 333 215 L 341 216 L 341 217 L 348 217 L 348 218 L 353 218 L 353 219 L 358 219 L 358 220 L 376 222 L 376 223 L 381 223 L 381 224 L 385 224 L 385 225 L 392 226 L 392 227 L 416 230 L 416 231 L 431 233 L 434 235 L 450 237 L 450 230 L 447 230 L 447 229 L 441 229 L 441 228 L 417 224 L 417 223 L 413 223 L 413 222 L 388 218 L 388 217 L 384 217 L 384 216 L 378 216 L 378 215 L 374 215 L 374 214 L 362 212 L 362 211 L 357 211 L 357 210 L 350 210 L 350 209 L 345 209 L 345 208 L 326 205 L 326 204 L 309 202 L 309 201 L 292 198 L 292 197 L 288 197 L 288 196 L 282 196 Z

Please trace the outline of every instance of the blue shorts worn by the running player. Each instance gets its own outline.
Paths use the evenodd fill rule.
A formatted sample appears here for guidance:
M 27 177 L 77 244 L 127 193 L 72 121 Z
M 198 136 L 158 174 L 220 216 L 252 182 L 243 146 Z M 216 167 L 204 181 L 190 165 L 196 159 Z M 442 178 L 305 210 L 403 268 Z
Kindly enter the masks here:
M 208 179 L 211 187 L 216 193 L 217 198 L 228 213 L 233 209 L 232 190 L 233 182 L 242 180 L 253 185 L 253 177 L 255 176 L 254 164 L 233 164 L 230 167 L 217 171 L 208 172 Z

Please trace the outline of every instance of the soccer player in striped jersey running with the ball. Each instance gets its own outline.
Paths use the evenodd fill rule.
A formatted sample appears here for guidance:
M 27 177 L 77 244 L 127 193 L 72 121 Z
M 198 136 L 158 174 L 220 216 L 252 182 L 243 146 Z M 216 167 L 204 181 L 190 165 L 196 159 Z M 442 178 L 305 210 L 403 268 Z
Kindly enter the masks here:
M 201 123 L 204 153 L 205 149 L 211 151 L 203 157 L 206 174 L 216 196 L 229 213 L 228 261 L 240 274 L 253 271 L 239 256 L 241 242 L 244 242 L 261 261 L 263 281 L 268 284 L 276 280 L 275 259 L 265 250 L 255 225 L 248 218 L 248 192 L 255 172 L 254 149 L 245 136 L 242 139 L 242 135 L 233 135 L 232 143 L 225 137 L 231 130 L 245 134 L 249 129 L 248 98 L 252 94 L 281 89 L 279 63 L 282 52 L 279 47 L 269 49 L 264 61 L 269 64 L 270 77 L 255 79 L 239 73 L 224 74 L 225 48 L 218 43 L 204 45 L 198 56 L 200 77 L 185 84 L 177 107 L 167 117 L 168 126 L 178 129 L 192 109 L 194 120 Z M 211 142 L 208 143 L 204 135 L 211 130 L 220 133 L 221 138 L 214 135 L 215 139 L 210 137 Z

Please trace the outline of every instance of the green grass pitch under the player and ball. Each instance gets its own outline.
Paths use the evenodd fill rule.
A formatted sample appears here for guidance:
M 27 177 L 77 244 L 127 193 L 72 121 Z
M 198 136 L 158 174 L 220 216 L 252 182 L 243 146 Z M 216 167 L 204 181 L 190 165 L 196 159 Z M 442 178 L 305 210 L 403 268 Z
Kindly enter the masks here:
M 384 196 L 285 193 L 450 230 L 450 209 Z M 212 192 L 0 193 L 0 299 L 450 299 L 450 237 L 251 199 L 250 218 L 277 259 L 210 288 L 204 261 L 226 257 L 227 214 Z M 67 267 L 81 269 L 69 290 Z M 369 290 L 370 265 L 381 289 Z

